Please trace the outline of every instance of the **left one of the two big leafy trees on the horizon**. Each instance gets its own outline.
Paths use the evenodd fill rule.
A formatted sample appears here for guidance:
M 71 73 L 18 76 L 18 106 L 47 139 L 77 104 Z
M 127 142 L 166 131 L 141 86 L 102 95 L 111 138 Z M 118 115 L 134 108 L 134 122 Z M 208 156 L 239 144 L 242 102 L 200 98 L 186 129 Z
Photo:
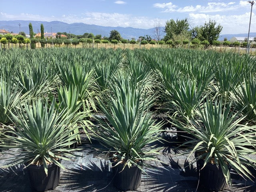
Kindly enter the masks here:
M 164 40 L 168 41 L 172 39 L 172 36 L 181 34 L 182 32 L 188 33 L 189 24 L 188 19 L 176 20 L 176 22 L 171 19 L 166 22 L 164 32 L 166 32 L 166 36 L 164 36 Z

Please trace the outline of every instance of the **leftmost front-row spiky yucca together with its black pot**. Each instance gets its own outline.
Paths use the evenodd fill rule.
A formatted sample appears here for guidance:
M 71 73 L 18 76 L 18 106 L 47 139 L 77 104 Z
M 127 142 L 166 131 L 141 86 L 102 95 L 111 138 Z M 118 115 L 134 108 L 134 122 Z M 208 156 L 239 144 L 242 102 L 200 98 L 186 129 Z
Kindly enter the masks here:
M 64 147 L 72 145 L 77 137 L 74 128 L 67 126 L 74 114 L 67 110 L 59 113 L 55 101 L 49 108 L 47 103 L 48 99 L 37 98 L 24 104 L 22 110 L 17 109 L 16 115 L 12 114 L 16 129 L 7 126 L 10 134 L 4 135 L 4 144 L 0 144 L 3 154 L 13 155 L 2 167 L 24 163 L 31 187 L 36 191 L 58 186 L 60 168 L 64 168 L 60 160 L 69 160 L 75 150 Z

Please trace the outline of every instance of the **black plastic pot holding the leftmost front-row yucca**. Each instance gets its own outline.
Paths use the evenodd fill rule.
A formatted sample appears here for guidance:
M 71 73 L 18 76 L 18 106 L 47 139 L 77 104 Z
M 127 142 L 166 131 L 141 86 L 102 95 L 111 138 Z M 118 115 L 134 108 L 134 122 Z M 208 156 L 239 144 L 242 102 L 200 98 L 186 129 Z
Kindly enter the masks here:
M 56 188 L 60 183 L 60 167 L 56 164 L 48 165 L 48 175 L 44 172 L 44 166 L 28 166 L 28 176 L 31 188 L 36 191 L 47 191 Z

